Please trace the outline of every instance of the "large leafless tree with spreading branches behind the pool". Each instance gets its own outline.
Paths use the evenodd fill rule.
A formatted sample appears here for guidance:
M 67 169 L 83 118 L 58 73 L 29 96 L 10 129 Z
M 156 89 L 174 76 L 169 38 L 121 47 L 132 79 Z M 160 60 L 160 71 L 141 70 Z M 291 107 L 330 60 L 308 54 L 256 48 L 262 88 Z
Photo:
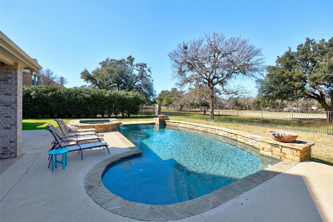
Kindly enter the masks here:
M 210 120 L 214 121 L 216 94 L 237 94 L 239 87 L 230 88 L 228 82 L 237 76 L 256 77 L 264 71 L 261 49 L 241 37 L 227 39 L 222 33 L 182 42 L 168 53 L 173 78 L 178 87 L 202 83 L 208 88 Z

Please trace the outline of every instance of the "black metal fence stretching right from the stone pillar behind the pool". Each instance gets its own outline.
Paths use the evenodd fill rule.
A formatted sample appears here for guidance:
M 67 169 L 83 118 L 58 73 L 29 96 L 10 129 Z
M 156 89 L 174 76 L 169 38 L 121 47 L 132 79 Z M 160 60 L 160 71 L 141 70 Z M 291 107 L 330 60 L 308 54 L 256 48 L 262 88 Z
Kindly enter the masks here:
M 333 121 L 330 120 L 333 111 L 214 108 L 213 112 L 214 120 L 218 122 L 333 134 Z M 179 118 L 209 120 L 210 108 L 162 106 L 161 114 Z

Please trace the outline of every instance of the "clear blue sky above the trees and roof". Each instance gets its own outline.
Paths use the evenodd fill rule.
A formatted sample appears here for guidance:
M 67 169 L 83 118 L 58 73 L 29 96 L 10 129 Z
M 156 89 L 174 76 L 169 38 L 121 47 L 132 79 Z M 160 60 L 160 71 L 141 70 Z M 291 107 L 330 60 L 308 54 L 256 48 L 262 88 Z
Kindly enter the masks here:
M 0 7 L 1 31 L 64 76 L 67 87 L 85 84 L 84 68 L 132 55 L 152 68 L 157 93 L 170 90 L 167 53 L 205 32 L 248 38 L 267 65 L 306 37 L 333 36 L 333 1 L 0 1 Z

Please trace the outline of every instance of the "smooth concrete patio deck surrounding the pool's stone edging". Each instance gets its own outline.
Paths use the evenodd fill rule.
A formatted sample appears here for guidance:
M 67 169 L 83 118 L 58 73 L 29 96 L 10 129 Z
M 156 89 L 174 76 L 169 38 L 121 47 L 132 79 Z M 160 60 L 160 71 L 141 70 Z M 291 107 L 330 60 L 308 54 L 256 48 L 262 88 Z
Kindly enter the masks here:
M 100 137 L 110 154 L 103 148 L 84 150 L 81 160 L 70 152 L 65 170 L 52 171 L 47 167 L 51 133 L 24 130 L 25 155 L 0 175 L 0 221 L 140 221 L 109 212 L 86 191 L 86 175 L 96 164 L 137 151 L 117 132 Z M 239 204 L 238 197 L 253 206 Z M 213 209 L 176 221 L 333 221 L 333 167 L 304 160 Z

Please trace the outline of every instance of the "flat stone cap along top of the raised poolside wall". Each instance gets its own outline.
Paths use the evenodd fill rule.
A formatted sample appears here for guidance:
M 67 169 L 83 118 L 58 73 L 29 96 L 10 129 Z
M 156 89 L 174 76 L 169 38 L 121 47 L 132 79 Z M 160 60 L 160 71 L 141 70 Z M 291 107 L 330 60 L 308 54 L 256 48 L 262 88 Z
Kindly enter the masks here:
M 183 123 L 183 124 L 201 126 L 201 127 L 205 127 L 205 128 L 211 128 L 211 129 L 220 129 L 220 130 L 232 133 L 232 134 L 246 136 L 248 138 L 252 138 L 252 139 L 255 139 L 260 142 L 271 143 L 271 144 L 285 146 L 285 147 L 299 149 L 299 150 L 304 149 L 304 147 L 314 145 L 313 142 L 305 142 L 305 141 L 299 141 L 299 140 L 295 140 L 293 142 L 279 142 L 279 141 L 272 139 L 271 137 L 262 137 L 262 136 L 251 135 L 250 133 L 246 133 L 246 132 L 242 132 L 242 131 L 238 131 L 238 130 L 234 130 L 234 129 L 228 129 L 228 128 L 224 128 L 224 127 L 219 127 L 219 126 L 205 125 L 205 124 L 199 124 L 199 123 L 193 123 L 193 122 L 183 122 L 183 121 L 178 121 L 178 120 L 166 120 L 166 122 Z

